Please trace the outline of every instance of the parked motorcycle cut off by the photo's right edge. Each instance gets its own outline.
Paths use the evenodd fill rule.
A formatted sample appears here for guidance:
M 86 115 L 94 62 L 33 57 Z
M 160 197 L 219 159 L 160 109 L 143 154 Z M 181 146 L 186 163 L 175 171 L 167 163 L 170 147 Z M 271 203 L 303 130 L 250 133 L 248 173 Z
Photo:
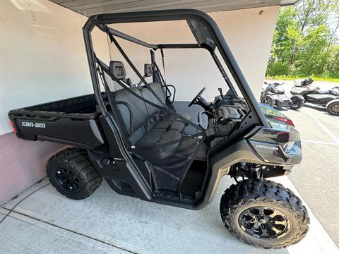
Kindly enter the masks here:
M 291 95 L 301 95 L 305 102 L 325 107 L 328 114 L 339 116 L 339 86 L 330 90 L 321 90 L 319 87 L 311 86 L 313 80 L 295 80 Z

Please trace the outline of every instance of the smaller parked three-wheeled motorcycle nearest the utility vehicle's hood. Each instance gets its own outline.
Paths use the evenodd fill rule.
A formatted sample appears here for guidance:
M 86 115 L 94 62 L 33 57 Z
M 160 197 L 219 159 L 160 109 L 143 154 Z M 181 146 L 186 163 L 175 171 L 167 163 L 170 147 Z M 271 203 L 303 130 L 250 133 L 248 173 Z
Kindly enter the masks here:
M 290 109 L 300 109 L 304 106 L 304 97 L 294 95 L 291 98 L 287 97 L 285 90 L 281 85 L 283 83 L 264 83 L 266 88 L 261 92 L 260 102 L 270 107 L 290 107 Z

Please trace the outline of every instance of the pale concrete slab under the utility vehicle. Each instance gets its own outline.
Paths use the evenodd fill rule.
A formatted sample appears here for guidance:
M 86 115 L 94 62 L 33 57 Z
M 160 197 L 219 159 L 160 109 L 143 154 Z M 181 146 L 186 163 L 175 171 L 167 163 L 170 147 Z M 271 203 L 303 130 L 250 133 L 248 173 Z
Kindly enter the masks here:
M 294 189 L 287 177 L 275 180 Z M 0 253 L 272 253 L 241 243 L 222 225 L 219 200 L 232 182 L 223 179 L 213 202 L 200 211 L 118 195 L 107 183 L 86 200 L 69 200 L 48 185 L 23 200 L 0 224 Z M 6 203 L 0 219 L 46 183 L 44 179 Z M 338 252 L 310 215 L 307 237 L 275 253 Z

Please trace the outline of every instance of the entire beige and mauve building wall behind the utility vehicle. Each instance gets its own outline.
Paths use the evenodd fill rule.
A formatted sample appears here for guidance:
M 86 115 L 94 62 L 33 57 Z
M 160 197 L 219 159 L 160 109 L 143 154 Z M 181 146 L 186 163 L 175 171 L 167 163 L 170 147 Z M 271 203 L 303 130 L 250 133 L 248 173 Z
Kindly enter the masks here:
M 224 34 L 258 97 L 266 71 L 278 6 L 210 13 Z M 92 92 L 83 45 L 84 16 L 47 0 L 0 1 L 0 204 L 44 176 L 53 143 L 19 140 L 13 135 L 10 109 Z M 187 30 L 173 23 L 118 25 L 122 31 L 152 42 L 191 42 Z M 95 51 L 108 61 L 107 37 L 95 32 Z M 149 62 L 148 51 L 136 52 L 122 43 L 138 68 Z M 196 49 L 194 49 L 196 50 Z M 137 53 L 137 54 L 133 54 Z M 111 51 L 113 59 L 119 59 Z M 190 100 L 206 86 L 213 98 L 223 80 L 207 52 L 165 52 L 167 83 L 178 87 L 177 99 Z M 179 59 L 179 61 L 178 61 Z M 157 63 L 161 66 L 161 60 Z M 180 63 L 180 64 L 179 64 Z M 211 64 L 210 64 L 211 63 Z M 131 70 L 127 68 L 128 74 Z M 199 75 L 197 75 L 197 73 Z

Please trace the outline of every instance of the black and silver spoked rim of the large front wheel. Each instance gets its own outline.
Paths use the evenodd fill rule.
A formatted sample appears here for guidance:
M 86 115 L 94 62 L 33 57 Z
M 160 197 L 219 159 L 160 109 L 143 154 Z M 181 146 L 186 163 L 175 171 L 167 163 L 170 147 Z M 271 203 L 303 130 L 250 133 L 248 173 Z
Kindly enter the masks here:
M 283 212 L 272 207 L 251 207 L 239 216 L 243 231 L 256 238 L 280 238 L 290 231 L 290 221 Z

